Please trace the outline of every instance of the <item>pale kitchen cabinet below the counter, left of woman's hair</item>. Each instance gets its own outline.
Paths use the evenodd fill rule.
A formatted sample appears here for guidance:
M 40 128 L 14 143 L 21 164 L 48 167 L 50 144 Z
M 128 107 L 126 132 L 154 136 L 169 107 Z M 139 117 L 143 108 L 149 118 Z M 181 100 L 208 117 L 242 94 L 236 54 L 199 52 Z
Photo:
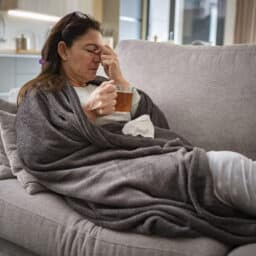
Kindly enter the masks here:
M 35 78 L 40 70 L 40 56 L 0 54 L 0 97 L 6 98 L 12 88 L 19 88 Z

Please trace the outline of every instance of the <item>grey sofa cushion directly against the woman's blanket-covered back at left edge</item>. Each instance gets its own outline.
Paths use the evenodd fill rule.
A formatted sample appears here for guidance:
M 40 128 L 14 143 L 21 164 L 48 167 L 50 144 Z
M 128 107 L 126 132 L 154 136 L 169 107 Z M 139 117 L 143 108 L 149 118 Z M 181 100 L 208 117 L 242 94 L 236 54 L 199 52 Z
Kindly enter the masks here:
M 15 114 L 0 110 L 0 139 L 3 142 L 3 149 L 8 156 L 8 162 L 10 164 L 10 170 L 12 175 L 10 175 L 10 173 L 8 174 L 10 177 L 16 176 L 21 185 L 30 194 L 44 191 L 46 190 L 46 188 L 40 185 L 40 183 L 34 176 L 32 176 L 30 173 L 22 168 L 16 146 L 15 117 Z M 1 167 L 2 166 L 3 163 Z

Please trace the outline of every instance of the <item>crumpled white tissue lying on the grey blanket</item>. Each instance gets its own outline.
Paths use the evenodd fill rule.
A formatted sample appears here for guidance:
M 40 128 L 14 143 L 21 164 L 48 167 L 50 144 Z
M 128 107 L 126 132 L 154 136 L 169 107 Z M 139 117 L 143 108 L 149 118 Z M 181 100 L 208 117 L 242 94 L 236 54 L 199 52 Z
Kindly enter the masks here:
M 123 129 L 123 134 L 143 137 L 154 138 L 155 129 L 154 125 L 150 120 L 149 115 L 142 115 L 132 121 L 127 122 Z

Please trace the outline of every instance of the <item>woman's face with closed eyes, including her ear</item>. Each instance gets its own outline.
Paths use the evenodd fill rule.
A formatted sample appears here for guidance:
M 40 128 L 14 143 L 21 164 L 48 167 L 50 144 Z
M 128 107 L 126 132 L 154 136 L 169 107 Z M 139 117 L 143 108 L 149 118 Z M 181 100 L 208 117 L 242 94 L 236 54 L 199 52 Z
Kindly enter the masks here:
M 83 85 L 93 80 L 100 64 L 102 36 L 99 31 L 90 29 L 77 38 L 70 48 L 64 47 L 61 56 L 65 75 L 73 85 Z

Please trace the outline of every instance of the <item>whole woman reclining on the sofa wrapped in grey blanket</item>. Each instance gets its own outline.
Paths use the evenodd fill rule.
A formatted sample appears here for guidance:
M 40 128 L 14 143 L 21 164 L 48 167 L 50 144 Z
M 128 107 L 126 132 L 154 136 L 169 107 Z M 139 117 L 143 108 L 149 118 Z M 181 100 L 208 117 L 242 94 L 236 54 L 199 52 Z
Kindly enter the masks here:
M 63 17 L 42 58 L 41 74 L 20 90 L 16 122 L 21 161 L 41 184 L 104 227 L 256 241 L 255 162 L 206 153 L 171 132 L 151 99 L 123 77 L 97 21 L 80 12 Z M 96 77 L 100 64 L 108 81 Z M 115 113 L 117 86 L 133 91 L 131 115 Z M 142 115 L 148 129 L 125 135 Z

